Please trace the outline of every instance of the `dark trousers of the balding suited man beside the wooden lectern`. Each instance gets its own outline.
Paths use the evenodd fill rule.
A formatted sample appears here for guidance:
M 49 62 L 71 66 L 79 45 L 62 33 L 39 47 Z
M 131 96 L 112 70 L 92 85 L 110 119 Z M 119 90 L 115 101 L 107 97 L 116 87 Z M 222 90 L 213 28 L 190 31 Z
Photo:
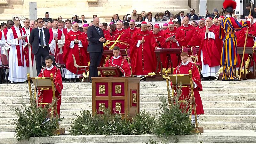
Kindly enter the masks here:
M 100 65 L 102 57 L 102 52 L 90 52 L 90 68 L 89 68 L 89 78 L 98 77 L 97 67 Z

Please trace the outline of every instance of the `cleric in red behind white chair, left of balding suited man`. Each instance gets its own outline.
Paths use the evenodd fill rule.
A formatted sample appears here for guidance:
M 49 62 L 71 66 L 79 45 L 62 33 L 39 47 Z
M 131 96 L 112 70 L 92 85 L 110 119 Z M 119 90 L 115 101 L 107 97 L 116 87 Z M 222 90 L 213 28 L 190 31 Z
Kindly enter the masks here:
M 78 23 L 72 25 L 72 30 L 65 38 L 63 61 L 66 64 L 65 78 L 73 79 L 76 76 L 77 68 L 74 66 L 73 56 L 75 56 L 76 64 L 79 66 L 88 66 L 90 61 L 89 54 L 87 53 L 88 42 L 85 39 L 84 33 L 78 31 Z M 85 71 L 78 71 L 78 76 Z

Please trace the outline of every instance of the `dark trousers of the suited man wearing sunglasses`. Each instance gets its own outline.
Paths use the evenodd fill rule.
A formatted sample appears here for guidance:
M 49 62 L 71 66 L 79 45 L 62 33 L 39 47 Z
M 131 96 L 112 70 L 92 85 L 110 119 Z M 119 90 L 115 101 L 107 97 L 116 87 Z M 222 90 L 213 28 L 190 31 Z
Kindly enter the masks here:
M 45 46 L 44 48 L 39 47 L 37 53 L 35 54 L 37 75 L 39 75 L 39 73 L 42 70 L 42 63 L 41 63 L 42 57 L 43 57 L 43 60 L 45 63 L 46 56 L 49 56 L 49 50 L 48 50 L 47 46 Z

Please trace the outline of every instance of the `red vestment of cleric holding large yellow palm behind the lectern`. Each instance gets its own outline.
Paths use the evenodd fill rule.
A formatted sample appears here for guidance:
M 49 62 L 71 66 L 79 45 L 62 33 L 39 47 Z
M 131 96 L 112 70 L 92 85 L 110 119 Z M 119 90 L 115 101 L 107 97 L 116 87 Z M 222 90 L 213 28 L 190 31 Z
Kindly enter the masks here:
M 122 32 L 124 32 L 124 33 L 121 35 Z M 121 30 L 118 30 L 118 29 L 116 28 L 116 31 L 113 31 L 113 32 L 112 32 L 112 38 L 113 38 L 113 40 L 116 40 L 119 35 L 121 35 L 121 36 L 120 36 L 120 38 L 118 39 L 118 41 L 122 41 L 122 42 L 124 42 L 124 43 L 130 44 L 130 42 L 131 42 L 131 36 L 129 35 L 128 32 L 126 32 L 126 31 L 124 30 L 124 28 L 122 28 Z M 112 44 L 113 44 L 113 43 L 111 43 L 110 46 L 111 46 Z M 118 46 L 120 49 L 125 49 L 125 48 L 129 47 L 129 46 L 126 46 L 126 45 L 120 44 L 120 43 L 116 43 L 115 46 Z

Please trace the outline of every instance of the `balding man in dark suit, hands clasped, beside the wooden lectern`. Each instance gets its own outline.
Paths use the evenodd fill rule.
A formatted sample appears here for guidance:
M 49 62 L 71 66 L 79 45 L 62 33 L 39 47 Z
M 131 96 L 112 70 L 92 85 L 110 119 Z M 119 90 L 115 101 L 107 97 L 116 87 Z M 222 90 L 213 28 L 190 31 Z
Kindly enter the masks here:
M 93 25 L 88 28 L 87 36 L 89 40 L 89 45 L 87 52 L 90 53 L 90 68 L 89 68 L 89 78 L 92 82 L 92 77 L 98 76 L 97 67 L 100 65 L 102 52 L 103 52 L 103 42 L 106 41 L 105 36 L 101 28 L 99 28 L 100 19 L 93 18 Z

